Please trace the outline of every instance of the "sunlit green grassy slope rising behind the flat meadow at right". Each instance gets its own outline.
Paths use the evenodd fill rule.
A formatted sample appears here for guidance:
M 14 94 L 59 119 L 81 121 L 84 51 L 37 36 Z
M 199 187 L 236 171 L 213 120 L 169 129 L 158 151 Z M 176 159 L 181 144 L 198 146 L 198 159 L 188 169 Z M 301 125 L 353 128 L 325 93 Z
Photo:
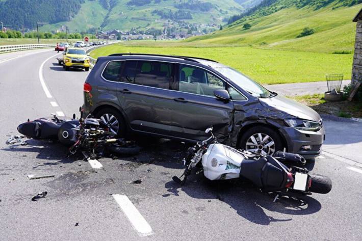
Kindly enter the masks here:
M 356 25 L 352 19 L 362 4 L 336 8 L 338 4 L 339 1 L 335 1 L 319 9 L 315 6 L 297 8 L 292 5 L 268 16 L 258 17 L 255 14 L 245 17 L 222 31 L 185 41 L 329 53 L 352 51 Z M 251 28 L 244 30 L 245 23 L 251 24 Z M 315 33 L 297 38 L 305 27 L 314 29 Z

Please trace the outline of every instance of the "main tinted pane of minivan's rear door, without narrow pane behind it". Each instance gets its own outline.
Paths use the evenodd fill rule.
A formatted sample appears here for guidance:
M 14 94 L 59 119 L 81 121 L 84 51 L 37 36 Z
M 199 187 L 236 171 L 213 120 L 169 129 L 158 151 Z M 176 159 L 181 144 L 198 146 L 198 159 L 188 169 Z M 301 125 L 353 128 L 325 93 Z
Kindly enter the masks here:
M 134 83 L 161 89 L 169 89 L 173 64 L 156 61 L 138 61 Z

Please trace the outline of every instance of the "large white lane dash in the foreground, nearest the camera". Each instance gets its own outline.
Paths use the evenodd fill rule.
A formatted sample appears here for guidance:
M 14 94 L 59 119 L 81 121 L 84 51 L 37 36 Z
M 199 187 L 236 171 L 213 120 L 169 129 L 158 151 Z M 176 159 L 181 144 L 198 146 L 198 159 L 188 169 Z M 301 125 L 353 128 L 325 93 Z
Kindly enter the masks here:
M 140 236 L 153 234 L 151 226 L 149 226 L 147 221 L 142 217 L 141 213 L 127 196 L 121 194 L 112 194 L 112 196 Z

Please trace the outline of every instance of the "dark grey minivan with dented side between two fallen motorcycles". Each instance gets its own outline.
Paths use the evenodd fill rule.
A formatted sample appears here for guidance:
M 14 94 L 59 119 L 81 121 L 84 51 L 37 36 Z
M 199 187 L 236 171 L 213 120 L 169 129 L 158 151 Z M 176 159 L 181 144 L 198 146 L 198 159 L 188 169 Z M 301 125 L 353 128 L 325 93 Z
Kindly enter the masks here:
M 322 119 L 213 60 L 120 53 L 98 58 L 84 84 L 84 115 L 119 136 L 132 132 L 195 142 L 213 125 L 230 146 L 306 158 L 322 151 Z

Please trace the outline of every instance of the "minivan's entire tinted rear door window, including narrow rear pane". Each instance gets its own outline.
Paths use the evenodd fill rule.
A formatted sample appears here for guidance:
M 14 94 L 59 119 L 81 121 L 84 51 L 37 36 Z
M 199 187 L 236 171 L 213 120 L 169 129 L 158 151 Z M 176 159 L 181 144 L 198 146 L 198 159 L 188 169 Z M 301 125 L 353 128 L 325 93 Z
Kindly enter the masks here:
M 173 76 L 173 64 L 157 61 L 127 61 L 122 82 L 169 89 Z

